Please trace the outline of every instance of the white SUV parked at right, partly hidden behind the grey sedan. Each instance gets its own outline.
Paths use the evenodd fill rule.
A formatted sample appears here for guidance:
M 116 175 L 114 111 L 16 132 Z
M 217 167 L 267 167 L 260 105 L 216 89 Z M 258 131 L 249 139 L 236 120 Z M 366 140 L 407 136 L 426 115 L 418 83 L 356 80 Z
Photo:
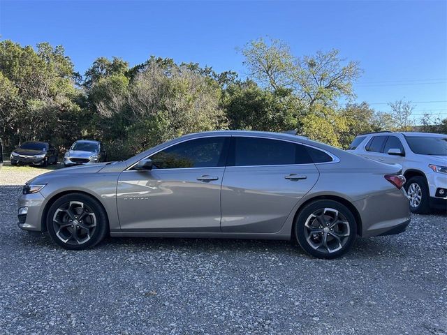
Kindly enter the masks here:
M 447 135 L 393 133 L 358 135 L 347 151 L 383 163 L 402 165 L 413 213 L 447 212 Z

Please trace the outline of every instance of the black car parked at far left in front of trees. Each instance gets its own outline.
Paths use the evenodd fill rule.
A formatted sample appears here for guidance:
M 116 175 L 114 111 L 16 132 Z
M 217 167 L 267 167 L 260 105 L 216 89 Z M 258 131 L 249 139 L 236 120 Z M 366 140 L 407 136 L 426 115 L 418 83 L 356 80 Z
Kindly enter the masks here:
M 47 142 L 24 142 L 11 152 L 11 165 L 39 165 L 57 164 L 58 151 Z

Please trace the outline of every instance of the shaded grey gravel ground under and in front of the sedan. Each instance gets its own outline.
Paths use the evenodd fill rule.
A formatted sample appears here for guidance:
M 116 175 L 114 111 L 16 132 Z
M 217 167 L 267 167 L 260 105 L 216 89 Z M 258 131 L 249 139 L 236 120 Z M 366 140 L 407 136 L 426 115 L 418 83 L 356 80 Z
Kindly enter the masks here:
M 447 334 L 447 216 L 337 260 L 287 241 L 107 239 L 64 251 L 0 186 L 0 334 Z

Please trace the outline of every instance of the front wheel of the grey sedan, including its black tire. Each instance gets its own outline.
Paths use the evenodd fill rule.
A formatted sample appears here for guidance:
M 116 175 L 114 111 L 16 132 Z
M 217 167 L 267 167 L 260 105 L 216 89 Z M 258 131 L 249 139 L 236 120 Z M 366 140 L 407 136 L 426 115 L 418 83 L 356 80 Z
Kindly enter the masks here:
M 80 203 L 83 204 L 82 207 Z M 68 209 L 71 215 L 68 214 Z M 82 216 L 82 210 L 87 214 Z M 82 217 L 82 220 L 70 221 L 73 216 Z M 108 234 L 108 218 L 98 200 L 82 193 L 71 193 L 63 195 L 51 205 L 47 214 L 47 230 L 52 240 L 62 248 L 83 250 L 96 246 Z

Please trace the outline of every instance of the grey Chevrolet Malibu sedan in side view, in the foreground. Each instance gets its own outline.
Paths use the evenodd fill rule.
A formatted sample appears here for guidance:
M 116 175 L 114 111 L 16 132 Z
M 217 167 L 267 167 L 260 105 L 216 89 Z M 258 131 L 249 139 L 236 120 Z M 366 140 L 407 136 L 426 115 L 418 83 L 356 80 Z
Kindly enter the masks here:
M 127 161 L 31 179 L 19 227 L 67 249 L 105 236 L 296 239 L 336 258 L 356 237 L 409 224 L 399 165 L 290 134 L 214 131 L 179 137 Z

